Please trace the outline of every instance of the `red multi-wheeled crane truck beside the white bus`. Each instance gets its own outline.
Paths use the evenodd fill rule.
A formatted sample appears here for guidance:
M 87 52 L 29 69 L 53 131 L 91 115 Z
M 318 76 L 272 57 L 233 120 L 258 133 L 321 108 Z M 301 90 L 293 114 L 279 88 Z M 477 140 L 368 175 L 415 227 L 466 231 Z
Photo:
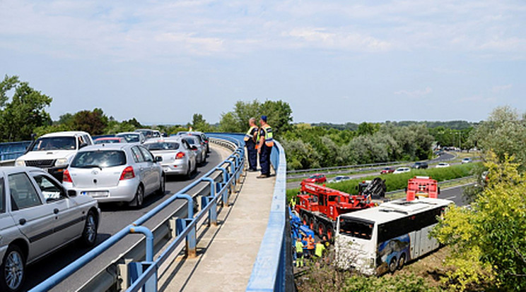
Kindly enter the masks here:
M 331 240 L 340 214 L 373 207 L 369 195 L 349 195 L 325 185 L 301 182 L 295 210 L 303 224 L 308 225 L 318 236 Z

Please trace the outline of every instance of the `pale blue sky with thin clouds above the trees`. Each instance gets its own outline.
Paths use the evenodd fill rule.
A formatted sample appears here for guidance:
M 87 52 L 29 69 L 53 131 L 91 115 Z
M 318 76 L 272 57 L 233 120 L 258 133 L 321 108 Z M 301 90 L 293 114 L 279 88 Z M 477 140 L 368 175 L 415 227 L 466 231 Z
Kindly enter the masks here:
M 296 122 L 480 121 L 526 111 L 526 3 L 0 0 L 0 73 L 54 119 L 215 123 L 281 99 Z

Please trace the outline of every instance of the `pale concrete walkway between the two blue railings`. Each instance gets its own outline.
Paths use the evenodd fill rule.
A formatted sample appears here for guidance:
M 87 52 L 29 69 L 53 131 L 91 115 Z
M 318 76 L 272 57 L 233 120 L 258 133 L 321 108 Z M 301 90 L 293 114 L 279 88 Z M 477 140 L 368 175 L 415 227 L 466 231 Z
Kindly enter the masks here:
M 197 231 L 197 257 L 177 257 L 159 291 L 245 291 L 267 229 L 275 176 L 247 172 L 241 189 L 221 209 L 218 226 Z

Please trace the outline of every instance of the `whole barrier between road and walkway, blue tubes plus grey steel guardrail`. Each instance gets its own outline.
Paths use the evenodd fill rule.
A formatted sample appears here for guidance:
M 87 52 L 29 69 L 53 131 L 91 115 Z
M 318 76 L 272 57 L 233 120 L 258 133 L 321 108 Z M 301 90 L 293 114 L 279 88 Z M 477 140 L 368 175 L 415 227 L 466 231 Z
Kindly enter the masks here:
M 156 291 L 158 276 L 168 268 L 166 261 L 170 255 L 177 255 L 182 250 L 189 256 L 195 255 L 196 229 L 206 221 L 208 224 L 216 224 L 218 202 L 228 205 L 228 194 L 240 178 L 245 162 L 243 144 L 232 135 L 218 135 L 217 138 L 214 136 L 216 135 L 210 135 L 211 142 L 233 150 L 228 159 L 30 291 L 49 291 L 95 257 L 107 253 L 110 247 L 131 233 L 142 233 L 145 238 L 136 241 L 121 257 L 113 260 L 110 264 L 113 269 L 110 269 L 110 266 L 105 267 L 80 290 L 105 291 L 115 287 L 115 282 L 119 282 L 117 290 Z M 194 198 L 198 196 L 201 197 L 201 210 L 194 216 Z M 160 222 L 151 224 L 151 219 L 160 212 L 166 212 L 168 206 L 173 205 L 177 199 L 185 199 L 187 203 L 169 212 L 168 217 Z M 184 207 L 187 209 L 186 213 L 181 212 Z M 162 253 L 154 257 L 156 248 L 162 248 Z M 110 270 L 113 272 L 109 273 Z

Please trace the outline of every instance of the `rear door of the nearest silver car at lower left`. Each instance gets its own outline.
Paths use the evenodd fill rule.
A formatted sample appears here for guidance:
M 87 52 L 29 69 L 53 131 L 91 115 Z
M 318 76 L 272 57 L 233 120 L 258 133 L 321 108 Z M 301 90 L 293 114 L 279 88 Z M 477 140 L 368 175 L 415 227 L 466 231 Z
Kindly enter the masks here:
M 55 207 L 43 202 L 25 171 L 9 174 L 7 178 L 11 216 L 29 241 L 30 261 L 62 244 L 59 238 L 53 236 Z

